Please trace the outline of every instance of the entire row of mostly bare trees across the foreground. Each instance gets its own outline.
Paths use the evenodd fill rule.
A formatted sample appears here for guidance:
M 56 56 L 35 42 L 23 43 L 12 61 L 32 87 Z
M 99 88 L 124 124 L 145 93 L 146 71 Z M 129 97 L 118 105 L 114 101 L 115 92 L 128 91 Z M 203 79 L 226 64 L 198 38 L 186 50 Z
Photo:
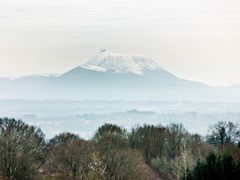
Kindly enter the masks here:
M 240 179 L 240 129 L 218 122 L 206 137 L 182 124 L 143 125 L 127 132 L 104 124 L 92 139 L 43 132 L 0 118 L 0 179 L 212 180 Z

